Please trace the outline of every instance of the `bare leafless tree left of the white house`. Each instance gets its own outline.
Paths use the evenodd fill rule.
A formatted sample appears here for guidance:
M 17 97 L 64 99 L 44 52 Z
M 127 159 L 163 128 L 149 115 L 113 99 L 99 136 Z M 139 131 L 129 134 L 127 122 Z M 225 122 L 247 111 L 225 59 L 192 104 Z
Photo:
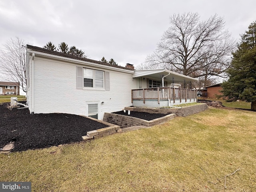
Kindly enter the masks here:
M 26 92 L 26 43 L 16 37 L 3 45 L 5 50 L 0 50 L 0 68 L 5 79 L 19 82 L 20 88 Z

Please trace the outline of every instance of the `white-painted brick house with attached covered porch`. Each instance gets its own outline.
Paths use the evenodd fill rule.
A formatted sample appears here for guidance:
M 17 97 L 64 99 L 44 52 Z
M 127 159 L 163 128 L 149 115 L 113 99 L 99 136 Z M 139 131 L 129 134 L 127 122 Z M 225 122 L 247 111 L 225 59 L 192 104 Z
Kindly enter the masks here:
M 178 88 L 194 78 L 168 70 L 134 70 L 27 45 L 30 113 L 69 113 L 101 119 L 126 106 L 196 102 L 196 91 Z M 162 88 L 164 86 L 164 88 Z M 169 101 L 168 101 L 169 99 Z

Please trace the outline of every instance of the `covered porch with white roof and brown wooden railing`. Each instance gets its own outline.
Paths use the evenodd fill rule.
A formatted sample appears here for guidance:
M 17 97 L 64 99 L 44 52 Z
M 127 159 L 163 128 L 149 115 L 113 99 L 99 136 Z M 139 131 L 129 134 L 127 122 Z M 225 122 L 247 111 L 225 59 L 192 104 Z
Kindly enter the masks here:
M 157 108 L 197 101 L 197 91 L 191 88 L 195 78 L 164 69 L 136 70 L 133 78 L 139 87 L 131 90 L 133 106 Z

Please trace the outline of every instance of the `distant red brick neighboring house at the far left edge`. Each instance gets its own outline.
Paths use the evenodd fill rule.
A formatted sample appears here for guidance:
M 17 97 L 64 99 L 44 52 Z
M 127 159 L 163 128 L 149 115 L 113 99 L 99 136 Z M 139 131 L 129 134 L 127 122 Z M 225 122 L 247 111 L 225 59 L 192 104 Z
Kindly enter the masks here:
M 19 95 L 20 83 L 0 81 L 0 95 Z

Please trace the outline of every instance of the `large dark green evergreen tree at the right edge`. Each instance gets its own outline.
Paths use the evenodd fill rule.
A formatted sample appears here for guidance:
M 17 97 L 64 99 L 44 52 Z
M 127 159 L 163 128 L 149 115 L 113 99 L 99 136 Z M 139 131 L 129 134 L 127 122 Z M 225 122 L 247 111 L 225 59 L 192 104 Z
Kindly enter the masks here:
M 224 96 L 233 100 L 252 102 L 256 111 L 256 21 L 241 35 L 238 49 L 233 53 L 229 79 L 222 84 Z

